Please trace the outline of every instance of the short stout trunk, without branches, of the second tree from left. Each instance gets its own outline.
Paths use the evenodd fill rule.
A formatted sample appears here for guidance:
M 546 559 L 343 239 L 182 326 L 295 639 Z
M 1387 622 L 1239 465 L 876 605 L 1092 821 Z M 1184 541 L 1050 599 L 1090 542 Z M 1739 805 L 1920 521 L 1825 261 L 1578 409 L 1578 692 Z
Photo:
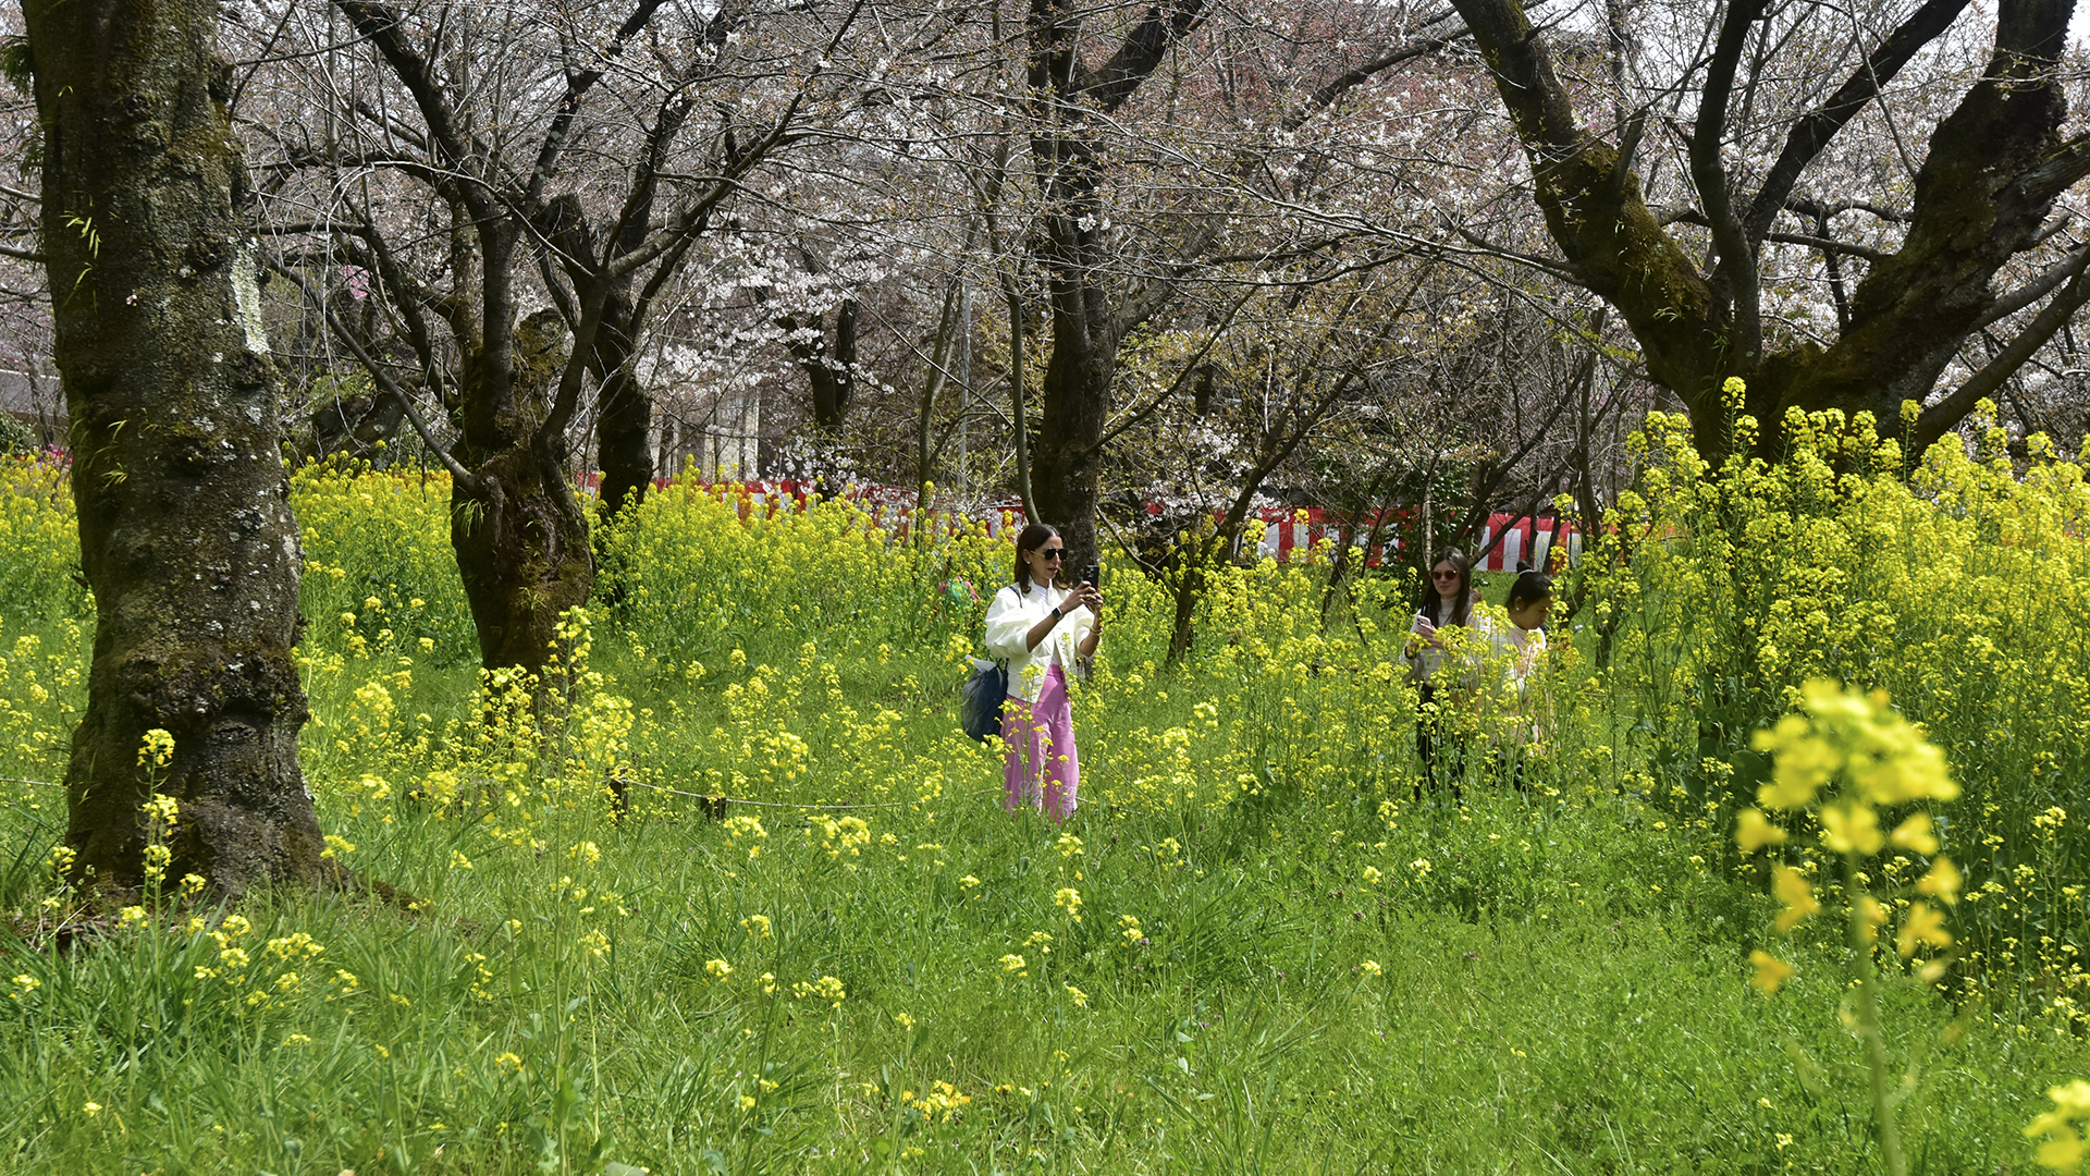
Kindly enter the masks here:
M 525 318 L 508 347 L 512 366 L 479 377 L 506 375 L 508 393 L 468 391 L 468 404 L 506 404 L 479 427 L 466 416 L 456 456 L 472 471 L 472 483 L 454 483 L 449 500 L 449 544 L 487 670 L 512 665 L 539 674 L 560 613 L 585 605 L 596 586 L 587 517 L 566 481 L 564 442 L 539 435 L 552 383 L 566 362 L 564 333 L 558 312 Z M 481 356 L 479 364 L 491 360 Z

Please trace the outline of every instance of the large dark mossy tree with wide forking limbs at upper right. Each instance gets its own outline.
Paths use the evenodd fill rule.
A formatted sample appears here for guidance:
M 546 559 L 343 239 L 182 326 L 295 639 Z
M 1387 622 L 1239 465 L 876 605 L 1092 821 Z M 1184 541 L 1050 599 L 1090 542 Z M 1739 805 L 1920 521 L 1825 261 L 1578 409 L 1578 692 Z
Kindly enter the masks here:
M 1762 421 L 1914 400 L 1927 446 L 2090 301 L 2067 0 L 1618 4 L 1599 44 L 1453 2 L 1559 251 L 1534 264 L 1620 312 L 1705 452 L 1726 377 Z

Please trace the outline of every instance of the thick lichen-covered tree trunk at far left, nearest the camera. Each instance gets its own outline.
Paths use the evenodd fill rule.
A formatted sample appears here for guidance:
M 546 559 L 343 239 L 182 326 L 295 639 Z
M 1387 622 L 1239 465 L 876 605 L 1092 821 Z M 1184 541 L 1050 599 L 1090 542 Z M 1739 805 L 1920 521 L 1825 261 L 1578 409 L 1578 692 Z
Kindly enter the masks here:
M 82 567 L 96 601 L 67 768 L 75 870 L 142 881 L 140 806 L 180 806 L 169 877 L 219 894 L 314 885 L 299 546 L 282 404 L 211 0 L 27 0 L 44 126 L 44 239 L 73 421 Z M 146 730 L 173 734 L 140 766 Z

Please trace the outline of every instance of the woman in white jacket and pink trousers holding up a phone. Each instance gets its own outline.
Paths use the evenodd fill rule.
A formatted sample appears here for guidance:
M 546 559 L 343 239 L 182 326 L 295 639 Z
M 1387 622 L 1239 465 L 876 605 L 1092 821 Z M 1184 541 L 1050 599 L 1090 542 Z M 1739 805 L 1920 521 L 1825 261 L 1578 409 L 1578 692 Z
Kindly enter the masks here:
M 1016 582 L 986 607 L 986 651 L 1009 663 L 1009 697 L 1001 739 L 1009 762 L 1001 808 L 1043 808 L 1053 820 L 1074 814 L 1081 757 L 1074 711 L 1066 701 L 1066 668 L 1095 657 L 1104 594 L 1095 584 L 1062 588 L 1066 540 L 1045 523 L 1016 536 Z

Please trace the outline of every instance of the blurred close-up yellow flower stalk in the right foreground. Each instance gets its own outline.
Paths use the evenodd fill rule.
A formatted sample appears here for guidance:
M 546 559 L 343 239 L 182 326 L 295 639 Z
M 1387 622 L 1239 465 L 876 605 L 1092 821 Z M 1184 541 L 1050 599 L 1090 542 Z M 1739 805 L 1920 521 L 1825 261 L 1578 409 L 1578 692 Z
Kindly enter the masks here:
M 1919 898 L 1902 912 L 1894 944 L 1904 960 L 1923 950 L 1950 948 L 1952 933 L 1933 900 L 1944 906 L 1956 904 L 1960 873 L 1952 858 L 1937 852 L 1937 833 L 1925 806 L 1958 797 L 1958 785 L 1946 770 L 1944 753 L 1921 728 L 1887 705 L 1885 691 L 1871 695 L 1845 691 L 1827 678 L 1802 686 L 1799 709 L 1781 718 L 1776 726 L 1758 730 L 1754 745 L 1770 753 L 1774 766 L 1770 781 L 1756 793 L 1762 808 L 1737 814 L 1735 843 L 1743 854 L 1756 854 L 1785 843 L 1791 837 L 1787 827 L 1797 824 L 1812 833 L 1820 850 L 1841 860 L 1845 935 L 1858 988 L 1856 1032 L 1864 1042 L 1871 1073 L 1873 1124 L 1887 1174 L 1902 1176 L 1908 1166 L 1902 1159 L 1894 1101 L 1887 1092 L 1887 1042 L 1879 1027 L 1875 963 L 1879 933 L 1889 917 L 1866 885 L 1866 879 L 1881 877 L 1879 870 L 1868 870 L 1868 862 L 1889 847 L 1931 860 L 1929 870 L 1914 883 Z M 1764 810 L 1795 816 L 1781 824 Z M 1770 887 L 1781 904 L 1772 923 L 1779 935 L 1791 933 L 1822 910 L 1814 883 L 1789 864 L 1772 866 Z M 1758 950 L 1751 958 L 1754 983 L 1766 994 L 1774 994 L 1793 975 L 1793 965 L 1766 950 Z M 1935 981 L 1942 973 L 1944 963 L 1935 958 L 1917 969 L 1925 981 Z

